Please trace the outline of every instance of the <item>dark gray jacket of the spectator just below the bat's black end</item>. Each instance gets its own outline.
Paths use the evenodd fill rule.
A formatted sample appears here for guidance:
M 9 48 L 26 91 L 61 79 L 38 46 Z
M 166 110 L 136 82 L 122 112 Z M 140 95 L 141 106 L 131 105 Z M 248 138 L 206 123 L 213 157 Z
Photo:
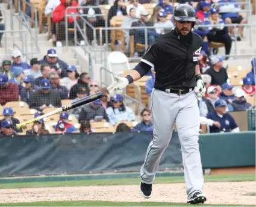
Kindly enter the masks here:
M 101 116 L 102 119 L 105 119 L 108 122 L 108 116 L 101 105 L 101 100 L 95 100 L 85 105 L 81 110 L 78 120 L 79 122 L 84 120 L 94 120 L 96 116 Z

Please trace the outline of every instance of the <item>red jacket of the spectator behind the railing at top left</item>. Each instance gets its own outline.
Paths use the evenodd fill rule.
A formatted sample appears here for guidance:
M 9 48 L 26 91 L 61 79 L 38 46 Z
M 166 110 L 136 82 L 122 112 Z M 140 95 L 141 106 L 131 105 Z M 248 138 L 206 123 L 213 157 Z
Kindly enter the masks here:
M 58 5 L 52 13 L 52 21 L 53 22 L 63 21 L 67 7 L 78 7 L 78 4 L 75 1 L 68 2 L 67 0 L 60 0 L 60 5 Z M 67 10 L 67 14 L 70 14 L 70 13 L 79 13 L 79 12 L 77 8 L 69 8 Z M 79 19 L 79 17 L 76 16 L 76 19 Z M 67 21 L 69 23 L 72 23 L 73 17 L 72 16 L 67 17 Z

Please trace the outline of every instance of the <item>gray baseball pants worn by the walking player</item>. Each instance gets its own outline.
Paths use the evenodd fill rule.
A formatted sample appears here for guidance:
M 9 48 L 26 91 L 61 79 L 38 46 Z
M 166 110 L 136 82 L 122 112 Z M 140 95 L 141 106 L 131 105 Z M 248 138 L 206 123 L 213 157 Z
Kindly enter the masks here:
M 199 108 L 194 90 L 178 95 L 153 89 L 151 93 L 154 138 L 148 146 L 140 176 L 145 184 L 152 184 L 164 150 L 170 143 L 173 125 L 176 123 L 183 156 L 187 197 L 202 192 L 204 178 L 199 152 Z

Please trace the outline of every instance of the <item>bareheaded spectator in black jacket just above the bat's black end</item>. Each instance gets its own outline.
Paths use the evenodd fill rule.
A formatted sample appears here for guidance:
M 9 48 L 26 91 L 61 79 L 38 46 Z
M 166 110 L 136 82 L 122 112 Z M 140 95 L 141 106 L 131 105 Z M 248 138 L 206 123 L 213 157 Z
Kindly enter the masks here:
M 77 96 L 78 88 L 86 88 L 87 95 L 89 95 L 89 82 L 90 82 L 90 75 L 88 73 L 81 73 L 80 77 L 78 78 L 77 84 L 73 85 L 69 92 L 69 98 L 75 99 Z

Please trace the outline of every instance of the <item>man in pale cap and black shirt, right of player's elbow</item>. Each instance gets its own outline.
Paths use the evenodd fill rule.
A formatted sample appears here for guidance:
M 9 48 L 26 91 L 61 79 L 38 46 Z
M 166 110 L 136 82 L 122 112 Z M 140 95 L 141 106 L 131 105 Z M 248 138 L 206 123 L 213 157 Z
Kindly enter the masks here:
M 211 85 L 222 85 L 228 79 L 228 73 L 222 66 L 223 58 L 218 55 L 211 55 L 209 58 L 212 66 L 206 70 L 205 74 L 211 76 Z

